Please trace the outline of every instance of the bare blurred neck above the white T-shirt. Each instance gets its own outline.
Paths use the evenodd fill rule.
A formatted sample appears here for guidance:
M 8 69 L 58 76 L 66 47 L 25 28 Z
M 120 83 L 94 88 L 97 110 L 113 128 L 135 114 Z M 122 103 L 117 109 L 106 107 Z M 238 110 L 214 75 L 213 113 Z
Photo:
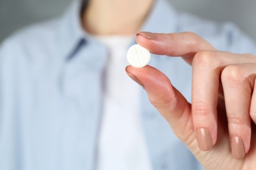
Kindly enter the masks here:
M 82 14 L 83 28 L 93 35 L 135 35 L 154 0 L 91 0 Z

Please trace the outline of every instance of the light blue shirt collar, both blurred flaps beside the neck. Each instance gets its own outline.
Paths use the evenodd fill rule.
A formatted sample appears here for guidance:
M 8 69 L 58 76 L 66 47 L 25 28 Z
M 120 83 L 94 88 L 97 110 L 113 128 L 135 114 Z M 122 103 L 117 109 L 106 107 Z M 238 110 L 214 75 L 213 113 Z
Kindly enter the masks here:
M 170 33 L 176 30 L 176 12 L 167 0 L 156 0 L 152 10 L 140 31 Z M 161 19 L 160 19 L 161 18 Z M 59 39 L 62 54 L 66 59 L 72 58 L 75 52 L 86 42 L 90 35 L 81 25 L 81 1 L 74 0 L 60 19 Z

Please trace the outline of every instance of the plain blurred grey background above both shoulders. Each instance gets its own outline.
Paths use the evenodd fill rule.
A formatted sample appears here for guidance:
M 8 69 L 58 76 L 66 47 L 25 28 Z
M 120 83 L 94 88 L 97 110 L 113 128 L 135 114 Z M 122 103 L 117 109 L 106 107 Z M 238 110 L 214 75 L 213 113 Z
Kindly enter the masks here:
M 25 25 L 59 16 L 71 1 L 0 0 L 0 42 Z M 234 22 L 247 35 L 256 40 L 255 0 L 169 1 L 177 10 L 190 12 L 217 22 Z

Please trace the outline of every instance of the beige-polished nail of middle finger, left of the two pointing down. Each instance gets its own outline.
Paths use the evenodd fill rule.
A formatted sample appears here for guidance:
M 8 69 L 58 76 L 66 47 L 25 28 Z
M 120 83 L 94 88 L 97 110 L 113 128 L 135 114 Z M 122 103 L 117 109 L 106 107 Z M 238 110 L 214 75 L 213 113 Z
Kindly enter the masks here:
M 200 128 L 196 133 L 199 148 L 203 151 L 210 150 L 213 147 L 213 140 L 209 131 L 205 128 Z

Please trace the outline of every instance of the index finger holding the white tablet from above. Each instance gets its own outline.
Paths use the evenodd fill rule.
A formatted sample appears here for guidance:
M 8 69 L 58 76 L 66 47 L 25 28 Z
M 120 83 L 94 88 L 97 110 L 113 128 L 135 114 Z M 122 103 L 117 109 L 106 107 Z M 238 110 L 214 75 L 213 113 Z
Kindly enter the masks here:
M 150 52 L 166 56 L 182 56 L 190 65 L 197 52 L 216 50 L 195 33 L 137 33 L 137 43 Z

